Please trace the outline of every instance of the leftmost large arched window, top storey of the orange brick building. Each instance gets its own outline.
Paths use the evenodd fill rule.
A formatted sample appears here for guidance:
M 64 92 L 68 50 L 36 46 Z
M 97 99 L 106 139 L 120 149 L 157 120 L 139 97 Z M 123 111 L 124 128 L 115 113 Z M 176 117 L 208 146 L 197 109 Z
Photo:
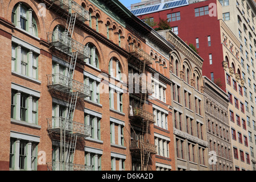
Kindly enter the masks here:
M 30 34 L 38 36 L 38 28 L 36 25 L 35 16 L 33 10 L 22 3 L 17 3 L 11 13 L 11 22 L 16 27 L 30 32 Z

